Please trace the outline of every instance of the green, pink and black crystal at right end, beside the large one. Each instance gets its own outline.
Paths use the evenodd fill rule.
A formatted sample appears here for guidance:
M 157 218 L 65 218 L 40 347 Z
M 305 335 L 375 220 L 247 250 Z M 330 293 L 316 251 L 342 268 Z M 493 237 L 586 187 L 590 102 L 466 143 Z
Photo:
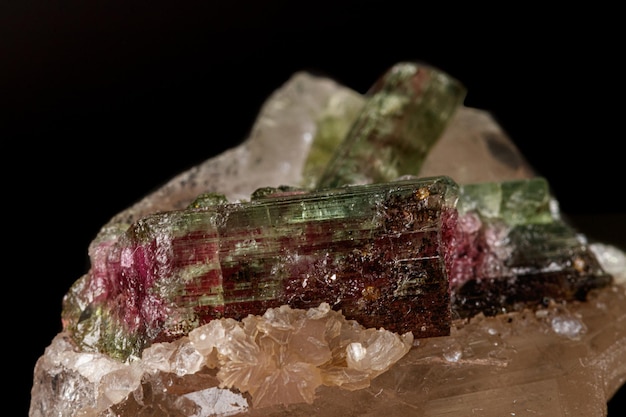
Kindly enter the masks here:
M 455 316 L 583 300 L 612 281 L 561 218 L 544 178 L 460 188 L 450 275 Z

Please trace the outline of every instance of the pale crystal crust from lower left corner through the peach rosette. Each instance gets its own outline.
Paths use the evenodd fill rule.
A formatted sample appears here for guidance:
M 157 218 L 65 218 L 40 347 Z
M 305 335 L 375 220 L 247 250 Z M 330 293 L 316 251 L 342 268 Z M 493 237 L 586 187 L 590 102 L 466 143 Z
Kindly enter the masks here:
M 39 381 L 31 416 L 67 415 L 66 398 L 75 401 L 72 415 L 81 416 L 108 415 L 109 407 L 114 415 L 144 416 L 154 411 L 151 402 L 166 416 L 311 403 L 320 386 L 367 387 L 412 342 L 411 333 L 366 329 L 326 303 L 308 310 L 282 305 L 241 321 L 213 320 L 188 337 L 144 349 L 141 359 L 126 365 L 108 355 L 79 353 L 59 335 L 39 364 L 49 373 Z M 59 398 L 54 374 L 65 368 L 75 369 L 68 379 L 79 385 L 64 387 L 65 398 Z

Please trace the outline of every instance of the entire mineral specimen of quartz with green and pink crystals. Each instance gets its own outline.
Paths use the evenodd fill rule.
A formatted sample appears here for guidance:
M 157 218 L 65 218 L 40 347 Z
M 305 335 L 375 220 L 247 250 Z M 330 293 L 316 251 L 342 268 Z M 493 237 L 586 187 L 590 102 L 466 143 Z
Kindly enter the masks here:
M 543 360 L 523 345 L 535 337 L 602 341 L 572 360 L 596 378 L 612 364 L 604 404 L 626 352 L 598 346 L 626 334 L 584 318 L 604 291 L 594 305 L 626 319 L 623 253 L 570 227 L 464 95 L 410 62 L 365 96 L 295 76 L 250 139 L 102 228 L 37 363 L 30 417 L 448 415 L 446 398 L 470 395 L 444 388 L 462 365 L 501 395 L 498 378 Z M 546 381 L 572 376 L 562 360 Z

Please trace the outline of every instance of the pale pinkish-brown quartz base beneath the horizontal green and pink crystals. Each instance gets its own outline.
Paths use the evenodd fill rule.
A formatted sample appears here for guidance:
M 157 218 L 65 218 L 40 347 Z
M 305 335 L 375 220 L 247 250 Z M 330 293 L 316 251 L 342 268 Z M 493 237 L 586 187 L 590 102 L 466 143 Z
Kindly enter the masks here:
M 294 322 L 300 320 L 300 314 L 295 312 Z M 317 321 L 318 316 L 323 314 L 309 318 Z M 250 321 L 260 323 L 257 317 L 246 322 Z M 385 352 L 395 356 L 387 363 L 389 369 L 383 367 L 382 371 L 386 372 L 379 373 L 374 368 L 366 370 L 376 376 L 371 381 L 365 377 L 365 372 L 349 367 L 347 362 L 342 365 L 340 361 L 330 361 L 316 367 L 317 372 L 325 378 L 335 375 L 336 379 L 325 379 L 315 390 L 311 403 L 285 404 L 297 400 L 289 396 L 294 392 L 291 388 L 297 384 L 291 379 L 289 390 L 281 395 L 283 402 L 265 403 L 266 406 L 261 401 L 269 397 L 262 395 L 281 393 L 281 384 L 270 384 L 270 390 L 255 391 L 255 396 L 250 398 L 235 386 L 220 388 L 216 371 L 221 367 L 198 366 L 203 364 L 198 361 L 198 353 L 204 355 L 207 345 L 214 344 L 216 350 L 225 354 L 222 363 L 228 364 L 227 375 L 237 372 L 240 364 L 242 371 L 250 370 L 250 381 L 264 383 L 264 379 L 258 378 L 266 376 L 268 371 L 252 371 L 257 367 L 265 369 L 263 363 L 244 355 L 246 349 L 254 349 L 254 346 L 241 346 L 241 343 L 229 346 L 225 343 L 229 333 L 209 334 L 209 328 L 201 327 L 190 338 L 154 344 L 144 350 L 141 360 L 130 364 L 107 355 L 80 351 L 67 334 L 60 333 L 35 368 L 29 415 L 603 417 L 606 416 L 606 401 L 624 382 L 626 291 L 623 285 L 592 291 L 584 302 L 551 303 L 536 311 L 522 310 L 489 317 L 477 315 L 453 320 L 452 324 L 449 336 L 417 339 L 408 352 L 403 350 L 403 343 L 398 343 L 406 342 L 404 338 L 391 337 L 384 341 L 387 348 L 379 351 L 380 356 Z M 315 325 L 309 323 L 306 327 Z M 212 326 L 213 330 L 220 327 L 217 323 Z M 235 327 L 239 326 L 242 324 L 233 326 L 230 333 L 235 334 Z M 275 330 L 281 328 L 285 334 L 299 329 L 276 323 Z M 374 329 L 351 328 L 346 323 L 341 328 L 353 336 L 344 341 L 330 341 L 326 346 L 333 352 L 341 351 L 335 349 L 339 346 L 356 342 L 368 348 L 368 356 L 376 356 L 375 344 L 389 336 Z M 314 338 L 321 338 L 322 333 L 314 331 Z M 241 336 L 243 339 L 233 340 L 247 340 L 248 336 Z M 189 339 L 192 339 L 191 345 Z M 291 338 L 289 343 L 293 345 L 289 349 L 299 352 L 300 345 L 310 340 Z M 311 349 L 305 351 L 307 355 L 323 353 L 325 345 L 313 345 Z M 238 352 L 242 352 L 239 357 Z M 339 354 L 337 359 L 341 356 Z M 397 362 L 393 362 L 398 357 Z M 210 357 L 206 360 L 214 363 Z M 333 370 L 333 366 L 337 368 Z M 284 372 L 297 371 L 295 367 L 285 368 Z M 342 381 L 356 382 L 363 388 L 342 389 Z M 310 382 L 311 379 L 306 380 L 305 389 L 311 387 Z M 255 398 L 259 406 L 253 405 Z

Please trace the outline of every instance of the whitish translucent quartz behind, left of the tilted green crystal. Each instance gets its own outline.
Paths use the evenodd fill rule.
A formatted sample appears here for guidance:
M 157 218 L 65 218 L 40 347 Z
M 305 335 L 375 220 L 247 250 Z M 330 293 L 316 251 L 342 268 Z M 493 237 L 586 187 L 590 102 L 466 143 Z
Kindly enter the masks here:
M 115 214 L 103 233 L 118 224 L 127 228 L 152 213 L 184 209 L 206 192 L 234 202 L 249 199 L 261 187 L 315 184 L 330 159 L 328 153 L 343 140 L 364 102 L 362 94 L 329 78 L 304 71 L 293 74 L 263 103 L 239 146 L 181 172 Z M 320 149 L 328 146 L 330 151 Z

